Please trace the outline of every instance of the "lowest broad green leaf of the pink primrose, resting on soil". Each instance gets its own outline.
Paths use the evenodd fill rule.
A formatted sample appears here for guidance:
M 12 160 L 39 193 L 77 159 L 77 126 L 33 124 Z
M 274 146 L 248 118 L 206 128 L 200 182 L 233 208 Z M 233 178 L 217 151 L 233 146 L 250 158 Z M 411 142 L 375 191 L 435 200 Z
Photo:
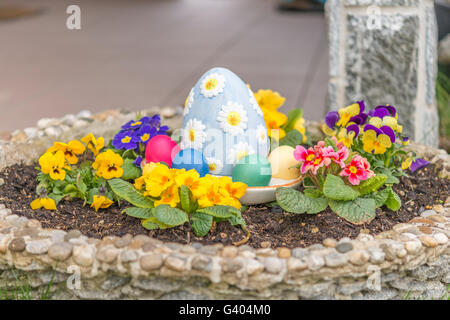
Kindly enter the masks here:
M 330 208 L 338 216 L 354 223 L 368 223 L 375 218 L 375 200 L 357 198 L 353 201 L 330 201 Z

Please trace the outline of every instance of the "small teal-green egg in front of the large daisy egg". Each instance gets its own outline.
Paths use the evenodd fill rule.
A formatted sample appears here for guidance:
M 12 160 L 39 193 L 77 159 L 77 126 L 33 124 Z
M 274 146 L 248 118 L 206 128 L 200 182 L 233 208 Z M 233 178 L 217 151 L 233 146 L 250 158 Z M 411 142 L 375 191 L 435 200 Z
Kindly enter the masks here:
M 233 168 L 232 180 L 249 187 L 265 187 L 272 178 L 269 161 L 262 155 L 252 154 L 242 158 Z

